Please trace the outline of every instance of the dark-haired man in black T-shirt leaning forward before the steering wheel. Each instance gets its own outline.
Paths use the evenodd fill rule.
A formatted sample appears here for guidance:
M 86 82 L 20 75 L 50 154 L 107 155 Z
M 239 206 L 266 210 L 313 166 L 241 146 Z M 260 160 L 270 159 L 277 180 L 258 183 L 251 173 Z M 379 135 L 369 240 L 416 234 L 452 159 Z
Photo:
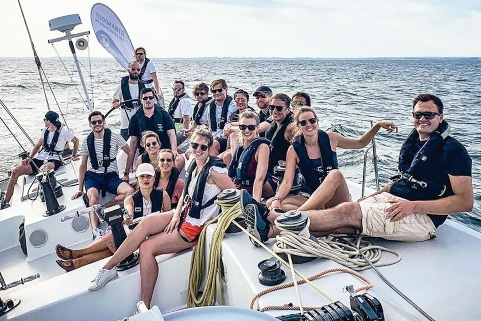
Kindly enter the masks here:
M 132 118 L 128 126 L 128 134 L 130 135 L 130 149 L 133 151 L 139 147 L 139 153 L 144 152 L 143 146 L 137 146 L 137 142 L 141 141 L 142 133 L 145 130 L 152 130 L 159 136 L 161 148 L 171 149 L 175 154 L 175 163 L 178 170 L 182 170 L 185 165 L 183 157 L 177 157 L 177 137 L 174 121 L 170 115 L 160 105 L 155 103 L 154 90 L 152 88 L 144 88 L 140 91 L 142 108 L 139 108 Z M 127 164 L 127 168 L 132 168 L 133 158 Z

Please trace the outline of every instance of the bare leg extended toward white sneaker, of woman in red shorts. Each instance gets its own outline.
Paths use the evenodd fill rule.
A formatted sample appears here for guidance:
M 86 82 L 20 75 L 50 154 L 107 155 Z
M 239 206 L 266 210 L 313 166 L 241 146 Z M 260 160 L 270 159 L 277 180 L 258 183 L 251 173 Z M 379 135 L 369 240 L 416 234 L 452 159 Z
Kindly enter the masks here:
M 172 212 L 150 214 L 143 218 L 139 225 L 127 236 L 124 243 L 115 251 L 114 256 L 104 265 L 104 268 L 111 270 L 122 262 L 123 259 L 134 253 L 145 241 L 149 234 L 158 234 L 164 231 L 172 218 Z

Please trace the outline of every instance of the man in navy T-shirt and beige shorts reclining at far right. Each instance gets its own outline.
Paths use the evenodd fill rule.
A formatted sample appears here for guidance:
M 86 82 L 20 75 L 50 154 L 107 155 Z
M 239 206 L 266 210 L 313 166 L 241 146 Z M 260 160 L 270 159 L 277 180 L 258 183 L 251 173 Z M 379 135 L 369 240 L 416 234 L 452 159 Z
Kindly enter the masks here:
M 443 102 L 432 94 L 419 94 L 412 116 L 414 129 L 401 147 L 399 174 L 357 203 L 306 211 L 313 235 L 360 231 L 366 236 L 419 242 L 434 238 L 448 215 L 472 210 L 471 157 L 449 136 Z M 280 213 L 249 204 L 249 195 L 242 192 L 249 230 L 262 242 L 278 235 L 274 222 Z

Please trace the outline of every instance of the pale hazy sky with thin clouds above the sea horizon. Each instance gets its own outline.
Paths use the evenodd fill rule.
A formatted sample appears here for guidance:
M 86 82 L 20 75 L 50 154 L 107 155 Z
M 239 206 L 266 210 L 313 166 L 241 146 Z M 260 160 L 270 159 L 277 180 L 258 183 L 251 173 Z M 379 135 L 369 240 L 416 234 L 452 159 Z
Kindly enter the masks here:
M 56 56 L 48 20 L 96 1 L 21 0 L 40 57 Z M 102 0 L 151 58 L 481 57 L 481 0 Z M 0 0 L 0 57 L 31 57 L 17 0 Z M 92 57 L 112 57 L 90 37 Z M 66 41 L 55 45 L 70 56 Z M 77 51 L 87 56 L 87 51 Z

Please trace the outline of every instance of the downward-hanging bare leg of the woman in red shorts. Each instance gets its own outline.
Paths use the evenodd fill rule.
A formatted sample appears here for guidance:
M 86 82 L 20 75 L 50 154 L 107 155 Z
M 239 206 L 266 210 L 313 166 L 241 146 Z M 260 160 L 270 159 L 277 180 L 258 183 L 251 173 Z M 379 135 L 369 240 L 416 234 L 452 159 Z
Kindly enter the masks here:
M 165 253 L 177 253 L 192 247 L 193 243 L 185 242 L 177 232 L 161 232 L 140 244 L 140 300 L 150 308 L 152 294 L 157 282 L 159 265 L 155 257 Z

